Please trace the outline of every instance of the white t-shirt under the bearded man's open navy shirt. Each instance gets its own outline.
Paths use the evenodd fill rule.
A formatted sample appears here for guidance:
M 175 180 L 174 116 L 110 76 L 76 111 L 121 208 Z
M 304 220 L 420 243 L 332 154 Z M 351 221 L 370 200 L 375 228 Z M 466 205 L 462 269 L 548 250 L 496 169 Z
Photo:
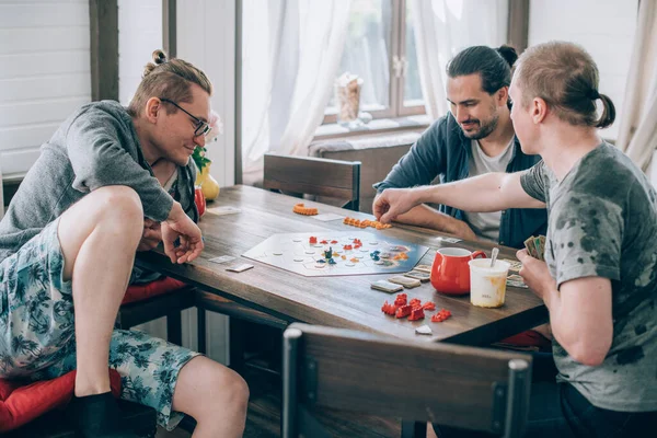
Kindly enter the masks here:
M 483 175 L 489 172 L 506 172 L 511 157 L 514 155 L 514 139 L 507 145 L 505 150 L 495 155 L 488 157 L 484 153 L 477 140 L 472 140 L 472 153 L 468 162 L 470 176 Z M 476 235 L 491 239 L 497 242 L 499 240 L 499 221 L 502 211 L 495 212 L 468 212 L 464 211 L 465 221 L 472 228 Z

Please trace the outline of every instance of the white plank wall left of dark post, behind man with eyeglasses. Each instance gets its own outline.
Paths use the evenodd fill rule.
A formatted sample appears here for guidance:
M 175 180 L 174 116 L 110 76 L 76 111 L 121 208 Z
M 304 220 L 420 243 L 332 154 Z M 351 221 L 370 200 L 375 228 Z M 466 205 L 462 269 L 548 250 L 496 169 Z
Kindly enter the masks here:
M 0 0 L 0 170 L 20 176 L 91 101 L 89 1 Z

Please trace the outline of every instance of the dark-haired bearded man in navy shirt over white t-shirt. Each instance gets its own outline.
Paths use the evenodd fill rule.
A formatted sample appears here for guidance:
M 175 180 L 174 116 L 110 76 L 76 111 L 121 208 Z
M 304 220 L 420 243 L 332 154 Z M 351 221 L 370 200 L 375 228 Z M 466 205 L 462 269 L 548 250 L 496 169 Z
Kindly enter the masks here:
M 450 113 L 422 135 L 384 181 L 374 184 L 379 194 L 427 185 L 437 177 L 449 183 L 489 172 L 518 172 L 539 162 L 539 155 L 522 152 L 510 119 L 508 93 L 517 58 L 508 46 L 474 46 L 457 54 L 447 66 Z M 530 235 L 545 234 L 548 218 L 544 209 L 465 212 L 419 205 L 395 220 L 466 240 L 483 238 L 523 247 Z

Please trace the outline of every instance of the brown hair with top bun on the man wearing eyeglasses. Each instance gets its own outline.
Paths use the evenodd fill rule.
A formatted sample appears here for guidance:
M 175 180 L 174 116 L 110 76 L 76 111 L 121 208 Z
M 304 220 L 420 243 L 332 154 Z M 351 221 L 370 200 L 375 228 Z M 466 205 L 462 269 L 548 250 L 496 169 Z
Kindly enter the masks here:
M 212 83 L 203 70 L 182 59 L 169 59 L 163 50 L 154 50 L 151 62 L 143 67 L 141 82 L 128 105 L 128 113 L 138 117 L 151 97 L 192 102 L 192 84 L 212 95 Z M 165 108 L 168 113 L 177 111 L 173 105 L 166 105 Z

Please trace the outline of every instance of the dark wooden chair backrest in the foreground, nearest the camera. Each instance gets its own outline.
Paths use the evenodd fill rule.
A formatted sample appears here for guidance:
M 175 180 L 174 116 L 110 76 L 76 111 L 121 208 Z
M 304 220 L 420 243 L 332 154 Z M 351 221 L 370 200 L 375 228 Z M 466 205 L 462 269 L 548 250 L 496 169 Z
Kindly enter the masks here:
M 284 437 L 321 437 L 321 407 L 519 437 L 531 356 L 295 323 L 284 334 Z

